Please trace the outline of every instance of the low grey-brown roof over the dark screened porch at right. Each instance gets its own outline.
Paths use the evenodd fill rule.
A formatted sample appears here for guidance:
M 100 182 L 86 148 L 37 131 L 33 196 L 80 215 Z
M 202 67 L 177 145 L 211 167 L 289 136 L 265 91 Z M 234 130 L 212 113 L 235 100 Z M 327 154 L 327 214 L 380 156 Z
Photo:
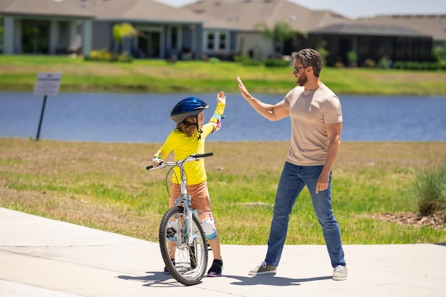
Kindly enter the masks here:
M 362 35 L 362 36 L 408 36 L 431 37 L 403 26 L 387 24 L 333 24 L 313 31 L 310 34 Z

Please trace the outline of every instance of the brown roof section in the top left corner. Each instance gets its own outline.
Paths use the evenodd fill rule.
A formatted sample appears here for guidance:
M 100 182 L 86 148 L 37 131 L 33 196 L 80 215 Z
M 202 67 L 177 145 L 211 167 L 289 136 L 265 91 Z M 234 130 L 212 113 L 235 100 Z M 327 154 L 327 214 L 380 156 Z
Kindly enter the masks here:
M 70 16 L 94 18 L 94 14 L 77 1 L 54 0 L 1 0 L 0 14 Z

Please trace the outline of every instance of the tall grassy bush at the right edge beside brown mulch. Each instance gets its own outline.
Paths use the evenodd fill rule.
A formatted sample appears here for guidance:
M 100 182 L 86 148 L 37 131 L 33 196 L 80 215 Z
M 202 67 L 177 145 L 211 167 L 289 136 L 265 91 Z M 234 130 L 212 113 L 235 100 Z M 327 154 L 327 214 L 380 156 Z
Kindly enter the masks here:
M 422 216 L 446 210 L 446 160 L 414 172 L 414 194 Z

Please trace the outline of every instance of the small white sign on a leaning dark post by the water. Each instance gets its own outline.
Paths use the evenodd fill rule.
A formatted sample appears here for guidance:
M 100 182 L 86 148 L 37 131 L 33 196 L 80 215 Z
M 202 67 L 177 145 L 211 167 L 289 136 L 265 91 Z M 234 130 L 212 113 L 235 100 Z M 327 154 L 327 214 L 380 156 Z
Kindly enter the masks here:
M 43 113 L 45 113 L 46 98 L 48 95 L 58 95 L 61 86 L 62 73 L 38 73 L 36 85 L 34 87 L 34 95 L 43 95 L 43 105 L 41 110 L 41 118 L 38 122 L 37 136 L 40 137 Z

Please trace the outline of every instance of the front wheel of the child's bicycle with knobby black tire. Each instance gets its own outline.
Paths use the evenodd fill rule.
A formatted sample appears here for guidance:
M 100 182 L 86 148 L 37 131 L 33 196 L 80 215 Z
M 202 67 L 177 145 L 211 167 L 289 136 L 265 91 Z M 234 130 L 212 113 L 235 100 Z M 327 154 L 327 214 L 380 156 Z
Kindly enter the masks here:
M 182 239 L 180 245 L 178 245 L 177 241 L 171 240 L 173 239 L 172 232 L 167 227 L 172 219 L 175 222 L 184 222 L 183 207 L 170 208 L 161 219 L 159 241 L 162 260 L 167 270 L 178 282 L 186 286 L 192 286 L 201 281 L 207 268 L 206 237 L 204 237 L 204 231 L 198 218 L 192 215 L 192 234 L 194 234 L 192 245 L 187 242 L 185 224 L 182 224 Z M 174 256 L 175 261 L 172 261 L 172 256 Z

